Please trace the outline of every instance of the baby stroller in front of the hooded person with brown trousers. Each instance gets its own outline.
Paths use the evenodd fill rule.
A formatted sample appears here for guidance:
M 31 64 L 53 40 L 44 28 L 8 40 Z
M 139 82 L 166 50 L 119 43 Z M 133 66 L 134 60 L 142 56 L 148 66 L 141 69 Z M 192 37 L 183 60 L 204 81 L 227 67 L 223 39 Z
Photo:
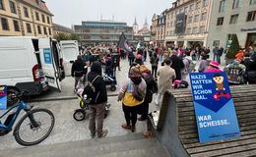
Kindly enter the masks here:
M 91 99 L 87 99 L 86 95 L 82 95 L 83 93 L 83 88 L 77 89 L 77 96 L 78 96 L 78 100 L 79 100 L 79 106 L 80 109 L 77 109 L 74 111 L 73 114 L 73 118 L 76 121 L 83 121 L 86 119 L 87 116 L 87 111 L 89 110 L 89 102 L 91 101 Z M 105 105 L 105 113 L 104 113 L 104 118 L 107 117 L 109 111 L 110 111 L 110 104 L 106 104 Z

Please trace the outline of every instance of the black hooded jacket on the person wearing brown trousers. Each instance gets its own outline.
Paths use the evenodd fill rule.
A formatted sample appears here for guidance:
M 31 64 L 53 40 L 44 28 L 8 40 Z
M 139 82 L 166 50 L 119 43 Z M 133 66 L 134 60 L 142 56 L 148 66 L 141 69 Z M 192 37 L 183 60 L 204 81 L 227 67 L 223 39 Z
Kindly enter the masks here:
M 98 78 L 96 78 L 99 76 Z M 94 81 L 93 85 L 96 88 L 96 95 L 92 98 L 93 102 L 91 105 L 100 104 L 107 101 L 107 93 L 105 88 L 105 82 L 101 77 L 101 64 L 98 61 L 95 61 L 91 67 L 91 72 L 88 74 L 88 80 Z M 84 78 L 86 81 L 86 77 Z

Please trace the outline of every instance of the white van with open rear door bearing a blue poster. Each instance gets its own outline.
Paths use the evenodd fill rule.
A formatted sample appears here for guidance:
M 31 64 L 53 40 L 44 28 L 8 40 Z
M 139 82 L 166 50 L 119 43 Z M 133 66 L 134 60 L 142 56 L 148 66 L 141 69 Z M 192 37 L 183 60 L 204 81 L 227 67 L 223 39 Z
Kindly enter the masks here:
M 49 87 L 61 90 L 64 78 L 60 48 L 56 40 L 32 36 L 0 37 L 0 84 L 9 94 L 28 90 L 40 94 Z

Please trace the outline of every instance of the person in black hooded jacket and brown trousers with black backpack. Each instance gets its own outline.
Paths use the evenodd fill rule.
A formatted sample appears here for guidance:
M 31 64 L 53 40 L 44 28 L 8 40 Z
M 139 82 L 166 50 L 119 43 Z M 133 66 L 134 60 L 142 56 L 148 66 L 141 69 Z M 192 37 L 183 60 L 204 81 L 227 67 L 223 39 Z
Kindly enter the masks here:
M 101 77 L 101 64 L 98 61 L 93 62 L 91 72 L 84 78 L 84 82 L 83 96 L 90 100 L 89 130 L 92 137 L 95 137 L 96 133 L 97 137 L 104 137 L 107 134 L 107 130 L 102 130 L 107 93 L 104 80 Z

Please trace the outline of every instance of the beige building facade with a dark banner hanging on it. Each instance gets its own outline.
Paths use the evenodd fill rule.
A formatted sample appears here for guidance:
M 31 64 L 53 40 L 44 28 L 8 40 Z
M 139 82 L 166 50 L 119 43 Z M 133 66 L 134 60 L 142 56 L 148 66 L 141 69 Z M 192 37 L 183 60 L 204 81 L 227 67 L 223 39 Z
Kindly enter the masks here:
M 166 13 L 165 45 L 206 46 L 214 0 L 177 0 Z

